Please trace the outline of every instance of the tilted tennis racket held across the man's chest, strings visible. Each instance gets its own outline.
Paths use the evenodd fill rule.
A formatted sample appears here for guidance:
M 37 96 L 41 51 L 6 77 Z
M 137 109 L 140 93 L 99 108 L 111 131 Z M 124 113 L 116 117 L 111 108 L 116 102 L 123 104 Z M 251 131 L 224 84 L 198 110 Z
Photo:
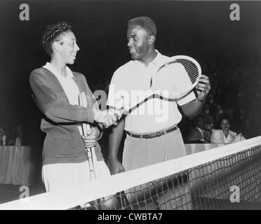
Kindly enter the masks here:
M 186 80 L 187 87 L 179 91 L 173 91 L 166 87 L 166 85 L 171 83 L 171 76 Z M 195 59 L 185 55 L 170 57 L 168 62 L 160 66 L 154 76 L 152 76 L 152 87 L 149 89 L 150 91 L 145 92 L 145 94 L 142 94 L 138 99 L 133 100 L 127 106 L 124 105 L 123 99 L 121 99 L 115 106 L 116 109 L 121 110 L 116 111 L 116 113 L 127 115 L 140 104 L 146 102 L 147 99 L 156 96 L 170 101 L 178 101 L 192 92 L 194 87 L 199 83 L 200 78 L 201 66 Z M 180 82 L 182 82 L 182 80 L 180 80 Z

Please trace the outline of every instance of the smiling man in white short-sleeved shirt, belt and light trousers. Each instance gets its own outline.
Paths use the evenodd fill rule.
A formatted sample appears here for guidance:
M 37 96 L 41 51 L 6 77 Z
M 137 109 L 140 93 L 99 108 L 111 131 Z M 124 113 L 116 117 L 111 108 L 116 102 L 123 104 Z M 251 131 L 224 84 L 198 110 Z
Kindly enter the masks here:
M 150 18 L 129 20 L 127 39 L 132 60 L 119 67 L 112 77 L 107 100 L 110 108 L 115 108 L 120 99 L 123 99 L 124 104 L 128 104 L 138 94 L 149 90 L 152 76 L 169 58 L 154 48 L 156 25 Z M 185 87 L 187 80 L 182 76 L 184 69 L 176 66 L 173 72 L 175 76 L 169 76 L 166 82 L 162 83 L 163 87 L 171 87 L 174 90 Z M 210 90 L 207 76 L 202 75 L 196 90 L 197 97 L 191 92 L 178 102 L 148 99 L 145 104 L 122 118 L 116 127 L 112 127 L 109 134 L 108 161 L 111 173 L 117 174 L 186 155 L 178 128 L 182 115 L 177 104 L 181 106 L 185 116 L 197 116 Z M 121 165 L 117 156 L 123 130 L 126 131 L 127 137 Z

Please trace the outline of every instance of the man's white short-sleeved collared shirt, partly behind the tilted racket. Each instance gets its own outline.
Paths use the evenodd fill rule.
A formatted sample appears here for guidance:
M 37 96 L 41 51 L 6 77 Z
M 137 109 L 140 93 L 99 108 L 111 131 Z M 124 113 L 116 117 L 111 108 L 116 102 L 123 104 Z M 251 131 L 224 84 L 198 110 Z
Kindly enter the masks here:
M 131 60 L 114 72 L 109 86 L 108 106 L 115 107 L 120 99 L 123 99 L 124 104 L 128 105 L 133 99 L 137 99 L 139 94 L 149 90 L 152 76 L 156 74 L 162 64 L 169 60 L 169 57 L 161 55 L 158 51 L 156 52 L 156 57 L 148 66 L 138 60 Z M 173 69 L 175 71 L 171 71 L 170 75 L 169 73 L 166 74 L 164 78 L 164 90 L 171 89 L 175 92 L 184 90 L 187 85 L 191 84 L 189 78 L 182 74 L 186 72 L 184 67 L 177 64 Z M 195 94 L 191 92 L 180 99 L 178 104 L 182 106 L 194 99 L 196 99 Z M 134 109 L 125 119 L 124 129 L 126 131 L 147 133 L 163 130 L 180 123 L 182 115 L 178 111 L 177 102 L 152 98 Z

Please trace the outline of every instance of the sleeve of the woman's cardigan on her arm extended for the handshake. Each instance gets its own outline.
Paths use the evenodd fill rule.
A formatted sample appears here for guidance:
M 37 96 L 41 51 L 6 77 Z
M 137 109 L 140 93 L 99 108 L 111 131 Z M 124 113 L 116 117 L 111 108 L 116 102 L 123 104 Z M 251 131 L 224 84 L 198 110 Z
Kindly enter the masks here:
M 52 90 L 44 74 L 32 71 L 29 84 L 34 100 L 44 115 L 55 123 L 94 122 L 94 114 L 90 109 L 79 105 L 70 105 L 62 101 Z

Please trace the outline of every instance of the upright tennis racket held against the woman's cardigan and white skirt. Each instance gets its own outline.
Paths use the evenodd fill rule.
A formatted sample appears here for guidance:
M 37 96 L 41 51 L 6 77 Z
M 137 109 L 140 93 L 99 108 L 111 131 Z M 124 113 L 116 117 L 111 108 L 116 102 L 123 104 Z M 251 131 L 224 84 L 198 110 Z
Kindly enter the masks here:
M 80 106 L 87 107 L 87 99 L 86 99 L 86 94 L 84 92 L 81 92 L 79 94 L 79 104 Z M 83 123 L 82 124 L 82 130 L 83 130 L 83 135 L 88 135 L 90 132 L 90 125 Z M 93 181 L 94 179 L 98 178 L 98 162 L 95 154 L 95 147 L 92 148 L 87 148 L 87 156 L 88 156 L 88 162 L 89 162 L 89 169 L 90 169 L 90 180 Z

